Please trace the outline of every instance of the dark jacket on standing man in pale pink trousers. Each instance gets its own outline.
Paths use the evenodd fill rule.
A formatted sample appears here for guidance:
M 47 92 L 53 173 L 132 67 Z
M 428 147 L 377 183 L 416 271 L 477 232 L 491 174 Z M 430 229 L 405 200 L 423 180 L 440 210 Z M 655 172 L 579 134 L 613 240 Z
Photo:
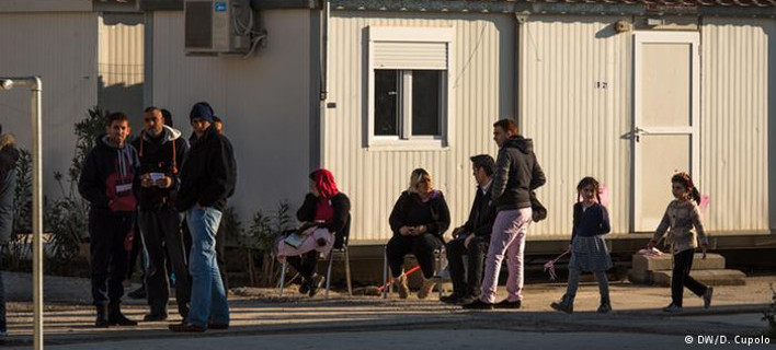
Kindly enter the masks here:
M 491 185 L 497 210 L 530 208 L 530 191 L 545 182 L 545 173 L 534 154 L 534 142 L 522 136 L 506 140 L 499 150 Z

